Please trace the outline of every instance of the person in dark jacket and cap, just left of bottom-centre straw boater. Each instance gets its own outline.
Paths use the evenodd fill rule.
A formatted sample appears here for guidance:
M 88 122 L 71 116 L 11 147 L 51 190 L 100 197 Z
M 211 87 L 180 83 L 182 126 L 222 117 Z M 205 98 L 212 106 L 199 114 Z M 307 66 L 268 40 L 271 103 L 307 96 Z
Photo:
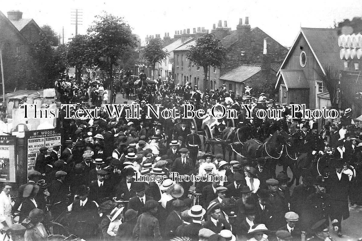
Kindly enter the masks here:
M 165 222 L 163 237 L 167 240 L 176 236 L 176 229 L 182 224 L 181 211 L 185 207 L 184 201 L 177 199 L 172 202 L 173 211 L 168 215 Z

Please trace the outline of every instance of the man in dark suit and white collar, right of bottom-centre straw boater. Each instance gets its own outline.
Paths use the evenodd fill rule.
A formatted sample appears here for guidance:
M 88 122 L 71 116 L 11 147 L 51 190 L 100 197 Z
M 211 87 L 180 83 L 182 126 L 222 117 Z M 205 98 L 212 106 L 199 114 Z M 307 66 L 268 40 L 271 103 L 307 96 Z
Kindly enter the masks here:
M 231 229 L 230 224 L 223 219 L 223 215 L 220 209 L 221 203 L 215 203 L 212 205 L 209 210 L 208 214 L 210 215 L 210 219 L 203 224 L 204 228 L 210 229 L 215 233 L 220 233 L 220 231 L 224 229 Z

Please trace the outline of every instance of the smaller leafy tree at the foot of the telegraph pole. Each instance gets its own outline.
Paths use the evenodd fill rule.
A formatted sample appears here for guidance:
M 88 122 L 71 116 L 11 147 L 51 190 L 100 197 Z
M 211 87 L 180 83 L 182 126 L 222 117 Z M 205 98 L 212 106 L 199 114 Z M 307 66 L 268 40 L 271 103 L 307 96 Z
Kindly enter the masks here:
M 67 44 L 66 60 L 70 67 L 76 68 L 76 79 L 81 76 L 83 66 L 93 65 L 93 52 L 90 50 L 90 38 L 88 35 L 76 35 Z

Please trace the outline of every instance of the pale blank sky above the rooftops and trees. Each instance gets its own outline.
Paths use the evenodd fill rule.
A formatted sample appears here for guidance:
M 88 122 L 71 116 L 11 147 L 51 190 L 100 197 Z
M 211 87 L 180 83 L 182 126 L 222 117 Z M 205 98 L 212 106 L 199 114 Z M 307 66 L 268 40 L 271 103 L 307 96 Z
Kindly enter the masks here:
M 71 25 L 73 9 L 82 9 L 82 25 L 78 34 L 85 34 L 94 16 L 102 11 L 124 17 L 132 27 L 132 32 L 143 40 L 146 35 L 169 33 L 175 30 L 205 27 L 219 20 L 227 21 L 228 27 L 236 29 L 239 18 L 249 17 L 251 27 L 259 27 L 283 46 L 292 45 L 302 27 L 331 27 L 333 21 L 362 16 L 362 0 L 344 4 L 341 0 L 3 0 L 0 11 L 7 15 L 9 10 L 20 10 L 23 18 L 33 18 L 39 26 L 50 25 L 67 42 L 75 34 Z M 353 3 L 353 4 L 352 4 Z

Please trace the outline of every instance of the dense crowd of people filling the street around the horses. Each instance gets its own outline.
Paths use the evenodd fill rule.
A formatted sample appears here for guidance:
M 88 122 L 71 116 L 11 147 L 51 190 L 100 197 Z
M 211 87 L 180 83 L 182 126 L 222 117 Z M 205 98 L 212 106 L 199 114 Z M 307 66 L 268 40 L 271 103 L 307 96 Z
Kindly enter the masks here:
M 305 144 L 300 151 L 308 154 L 310 162 L 316 155 L 328 156 L 329 176 L 305 175 L 291 192 L 290 177 L 283 171 L 272 173 L 265 157 L 227 161 L 220 153 L 202 152 L 202 139 L 196 133 L 202 120 L 146 119 L 144 112 L 140 119 L 111 118 L 102 107 L 107 103 L 102 81 L 66 78 L 55 86 L 62 103 L 76 105 L 71 113 L 98 107 L 100 119 L 66 119 L 61 111 L 59 127 L 66 141 L 55 143 L 51 151 L 39 149 L 35 169 L 28 171 L 28 183 L 18 188 L 14 205 L 11 184 L 3 185 L 4 230 L 14 238 L 25 232 L 25 241 L 47 240 L 52 232 L 49 224 L 56 221 L 66 222 L 70 233 L 84 240 L 330 241 L 331 219 L 333 230 L 342 236 L 342 220 L 349 217 L 348 197 L 352 204 L 361 205 L 362 200 L 361 174 L 355 175 L 362 144 L 352 132 L 349 109 L 341 124 L 328 123 L 318 133 L 316 120 L 291 119 L 287 106 L 268 100 L 264 93 L 251 96 L 249 87 L 242 98 L 225 85 L 201 93 L 190 83 L 175 86 L 171 78 L 154 84 L 140 81 L 146 81 L 144 89 L 129 104 L 141 108 L 146 103 L 161 104 L 182 111 L 182 104 L 191 103 L 206 112 L 216 103 L 234 108 L 237 127 L 253 127 L 254 138 L 264 141 L 285 130 Z M 244 103 L 283 108 L 284 115 L 249 120 Z M 220 134 L 227 121 L 212 126 L 215 133 Z M 172 172 L 210 176 L 214 181 L 172 180 Z M 138 181 L 138 177 L 148 179 Z

